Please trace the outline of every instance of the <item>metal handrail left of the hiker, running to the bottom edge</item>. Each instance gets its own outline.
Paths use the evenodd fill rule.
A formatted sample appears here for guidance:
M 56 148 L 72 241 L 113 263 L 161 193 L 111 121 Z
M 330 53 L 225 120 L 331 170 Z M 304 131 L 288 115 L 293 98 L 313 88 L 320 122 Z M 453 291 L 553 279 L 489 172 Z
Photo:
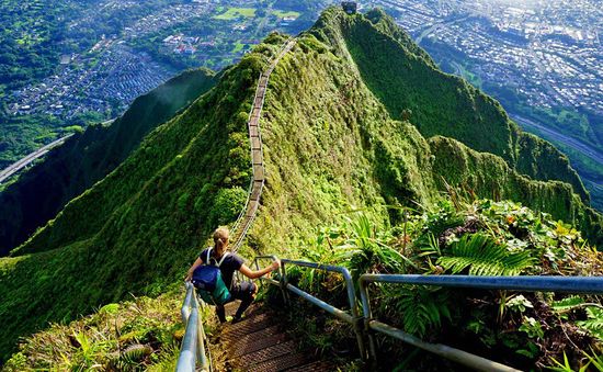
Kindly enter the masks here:
M 182 348 L 178 358 L 177 372 L 196 371 L 197 359 L 201 364 L 201 371 L 212 371 L 211 356 L 205 353 L 205 343 L 207 336 L 203 329 L 203 320 L 200 309 L 203 308 L 203 302 L 200 306 L 196 291 L 192 283 L 186 282 L 186 295 L 180 309 L 182 323 L 186 326 Z

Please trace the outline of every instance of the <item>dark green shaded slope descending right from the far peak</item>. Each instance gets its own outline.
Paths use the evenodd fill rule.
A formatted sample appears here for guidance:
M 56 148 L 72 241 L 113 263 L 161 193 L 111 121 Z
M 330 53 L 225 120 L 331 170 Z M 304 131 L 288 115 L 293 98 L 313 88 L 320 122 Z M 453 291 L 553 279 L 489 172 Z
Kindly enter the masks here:
M 366 18 L 331 12 L 335 14 L 329 18 L 326 32 L 317 35 L 329 41 L 333 27 L 342 30 L 366 84 L 394 119 L 403 117 L 402 112 L 410 110 L 410 121 L 423 136 L 453 137 L 476 150 L 501 156 L 534 179 L 570 183 L 589 201 L 565 155 L 549 143 L 521 132 L 492 98 L 437 69 L 385 12 L 375 10 Z

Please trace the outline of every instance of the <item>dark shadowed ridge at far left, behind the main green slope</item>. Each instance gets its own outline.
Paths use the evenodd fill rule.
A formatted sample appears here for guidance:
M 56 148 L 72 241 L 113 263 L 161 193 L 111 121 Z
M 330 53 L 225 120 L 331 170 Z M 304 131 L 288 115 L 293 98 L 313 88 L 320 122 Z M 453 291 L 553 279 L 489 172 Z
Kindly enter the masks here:
M 200 69 L 171 79 L 137 98 L 112 125 L 88 127 L 21 176 L 0 193 L 0 256 L 114 170 L 145 135 L 212 88 L 214 76 Z

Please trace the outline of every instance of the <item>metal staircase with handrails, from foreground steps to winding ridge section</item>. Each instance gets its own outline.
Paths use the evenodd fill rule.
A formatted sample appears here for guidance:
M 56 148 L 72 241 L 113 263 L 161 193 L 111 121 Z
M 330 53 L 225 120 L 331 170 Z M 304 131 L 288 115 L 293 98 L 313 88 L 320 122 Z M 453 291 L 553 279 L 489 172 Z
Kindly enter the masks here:
M 260 198 L 265 181 L 265 169 L 262 154 L 262 137 L 260 116 L 264 103 L 270 75 L 278 60 L 295 45 L 295 40 L 288 40 L 270 63 L 269 68 L 260 75 L 253 105 L 249 114 L 248 129 L 251 147 L 253 177 L 243 210 L 232 227 L 232 251 L 242 245 L 246 235 L 255 218 Z M 262 256 L 259 260 L 276 259 L 274 256 Z M 292 294 L 323 309 L 341 322 L 350 324 L 357 339 L 357 356 L 365 362 L 367 370 L 375 369 L 378 357 L 376 337 L 392 337 L 401 342 L 453 360 L 459 364 L 481 371 L 516 371 L 496 361 L 455 349 L 445 345 L 429 343 L 405 332 L 401 329 L 378 322 L 371 312 L 368 286 L 371 283 L 405 284 L 473 288 L 487 290 L 514 290 L 527 292 L 561 292 L 603 294 L 603 279 L 587 277 L 467 277 L 467 275 L 375 275 L 363 274 L 357 283 L 352 281 L 343 267 L 327 266 L 317 262 L 282 259 L 278 280 L 261 278 L 269 285 L 276 285 L 282 291 L 285 304 Z M 292 266 L 329 271 L 343 277 L 349 298 L 349 308 L 337 308 L 317 298 L 310 293 L 287 282 L 287 268 Z M 360 293 L 360 300 L 356 294 Z M 308 352 L 300 349 L 297 340 L 287 335 L 277 316 L 258 305 L 248 309 L 243 320 L 225 325 L 216 338 L 208 339 L 204 332 L 203 318 L 200 309 L 203 303 L 197 300 L 195 289 L 187 283 L 186 296 L 182 307 L 182 318 L 186 332 L 182 342 L 177 371 L 212 371 L 211 356 L 207 354 L 207 343 L 219 343 L 227 353 L 223 370 L 238 371 L 332 371 L 337 365 L 320 360 L 312 360 Z M 238 303 L 226 306 L 227 314 L 234 313 Z M 368 346 L 368 347 L 365 347 Z

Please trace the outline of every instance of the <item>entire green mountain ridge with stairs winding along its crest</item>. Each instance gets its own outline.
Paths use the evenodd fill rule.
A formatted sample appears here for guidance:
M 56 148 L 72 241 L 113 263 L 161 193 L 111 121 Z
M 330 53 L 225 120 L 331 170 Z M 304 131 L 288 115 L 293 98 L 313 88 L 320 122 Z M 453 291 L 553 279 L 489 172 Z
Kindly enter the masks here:
M 251 177 L 246 123 L 255 79 L 284 41 L 269 36 L 0 259 L 1 360 L 47 322 L 172 288 L 209 232 L 235 221 Z M 432 205 L 446 183 L 521 201 L 603 239 L 602 217 L 584 204 L 567 158 L 525 136 L 496 101 L 437 71 L 382 12 L 331 8 L 300 34 L 271 76 L 261 125 L 268 181 L 250 255 L 285 252 L 348 210 Z M 399 221 L 390 211 L 371 213 Z

